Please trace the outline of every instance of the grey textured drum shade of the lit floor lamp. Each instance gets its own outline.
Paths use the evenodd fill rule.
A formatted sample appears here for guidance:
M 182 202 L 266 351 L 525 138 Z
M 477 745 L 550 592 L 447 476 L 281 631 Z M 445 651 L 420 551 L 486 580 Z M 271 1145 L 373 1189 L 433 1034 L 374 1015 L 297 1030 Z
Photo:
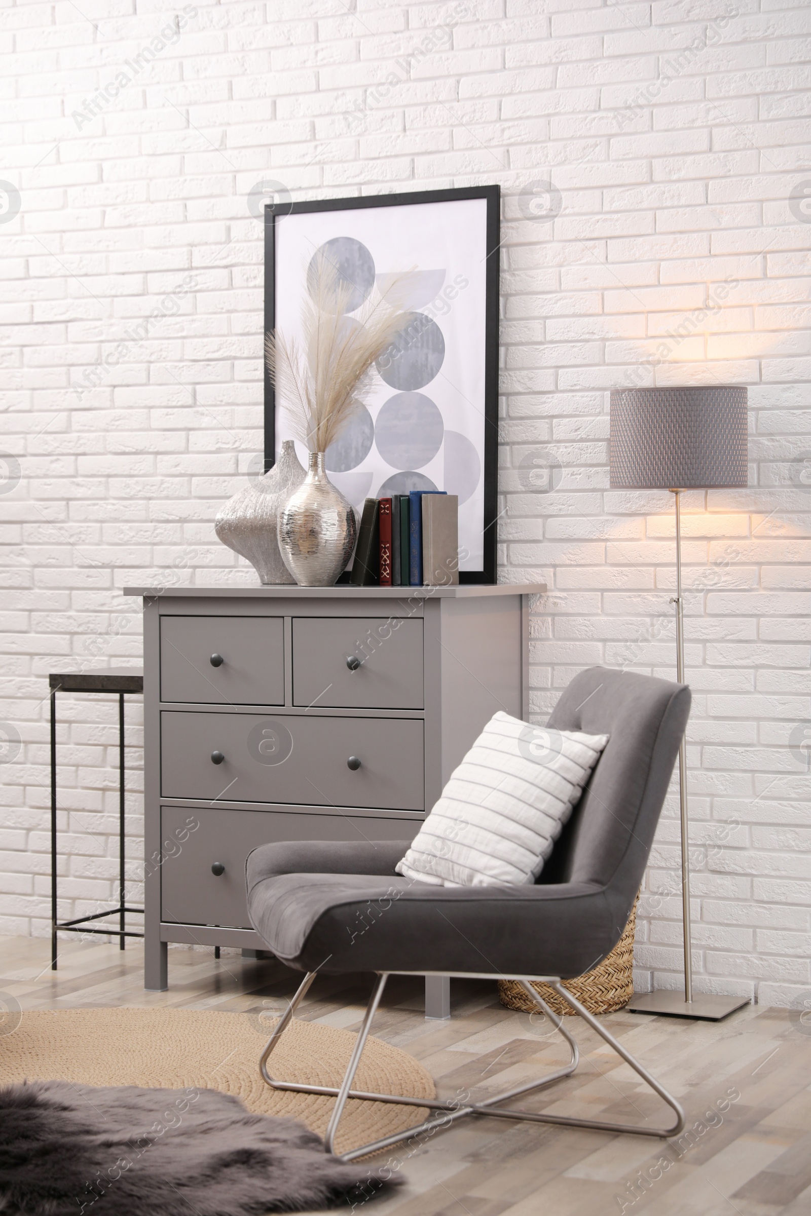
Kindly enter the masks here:
M 612 489 L 745 485 L 747 389 L 612 390 Z

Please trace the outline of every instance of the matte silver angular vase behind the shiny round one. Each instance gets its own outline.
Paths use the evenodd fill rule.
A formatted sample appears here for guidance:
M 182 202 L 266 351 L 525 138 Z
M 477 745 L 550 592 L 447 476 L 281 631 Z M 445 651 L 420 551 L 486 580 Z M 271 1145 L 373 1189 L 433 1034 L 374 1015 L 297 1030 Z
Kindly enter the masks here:
M 274 467 L 229 499 L 214 523 L 223 544 L 248 558 L 264 586 L 295 581 L 278 552 L 277 523 L 305 475 L 295 444 L 286 439 Z

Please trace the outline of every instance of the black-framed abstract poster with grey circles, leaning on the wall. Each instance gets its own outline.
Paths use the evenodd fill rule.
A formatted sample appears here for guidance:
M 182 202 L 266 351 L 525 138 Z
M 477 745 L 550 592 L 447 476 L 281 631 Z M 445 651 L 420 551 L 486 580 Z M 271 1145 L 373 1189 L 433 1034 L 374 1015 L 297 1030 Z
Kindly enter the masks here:
M 457 494 L 461 582 L 496 581 L 499 209 L 499 186 L 265 209 L 265 332 L 300 342 L 316 257 L 350 285 L 355 310 L 396 291 L 402 336 L 327 450 L 327 473 L 359 511 L 366 497 Z M 266 468 L 293 438 L 280 405 L 265 371 Z

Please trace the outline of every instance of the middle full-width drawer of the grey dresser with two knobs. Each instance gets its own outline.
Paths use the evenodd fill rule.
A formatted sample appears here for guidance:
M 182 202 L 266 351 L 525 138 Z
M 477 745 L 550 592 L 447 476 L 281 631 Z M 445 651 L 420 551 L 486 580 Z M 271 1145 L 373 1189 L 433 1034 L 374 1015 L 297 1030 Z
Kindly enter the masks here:
M 418 719 L 193 710 L 160 719 L 164 798 L 424 810 Z

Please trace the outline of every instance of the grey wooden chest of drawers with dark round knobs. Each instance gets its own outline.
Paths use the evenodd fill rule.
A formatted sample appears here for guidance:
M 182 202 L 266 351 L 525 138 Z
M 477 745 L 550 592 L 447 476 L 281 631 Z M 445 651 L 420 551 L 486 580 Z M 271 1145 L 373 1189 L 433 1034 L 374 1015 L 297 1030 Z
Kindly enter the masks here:
M 143 596 L 147 989 L 170 941 L 263 948 L 244 862 L 402 840 L 484 724 L 528 711 L 542 585 L 126 589 Z

